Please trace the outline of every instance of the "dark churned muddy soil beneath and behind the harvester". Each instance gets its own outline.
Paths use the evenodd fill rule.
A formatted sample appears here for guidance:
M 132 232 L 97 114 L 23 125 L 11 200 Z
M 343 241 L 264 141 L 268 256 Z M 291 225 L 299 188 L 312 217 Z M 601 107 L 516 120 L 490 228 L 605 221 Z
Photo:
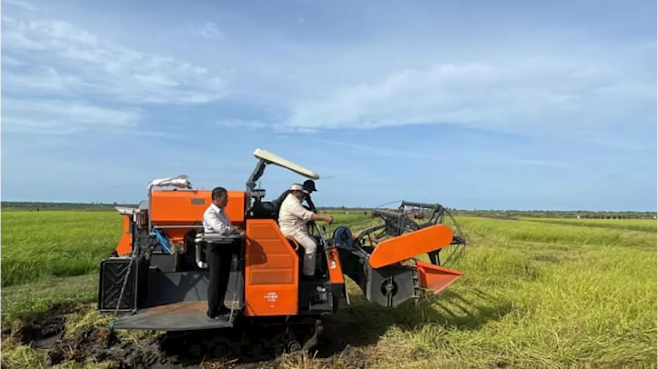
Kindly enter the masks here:
M 14 332 L 14 339 L 45 351 L 51 365 L 93 358 L 97 362 L 116 362 L 113 368 L 120 369 L 198 368 L 200 364 L 215 368 L 280 368 L 280 355 L 286 350 L 272 340 L 279 330 L 270 333 L 262 327 L 251 332 L 232 330 L 228 335 L 226 331 L 213 330 L 170 332 L 135 343 L 122 341 L 108 328 L 86 326 L 76 330 L 72 339 L 64 339 L 65 316 L 80 309 L 75 305 L 57 305 L 25 322 Z M 341 368 L 367 368 L 363 349 L 347 344 L 350 339 L 367 343 L 359 339 L 359 332 L 350 332 L 354 327 L 349 322 L 329 326 L 325 322 L 318 345 L 309 352 L 315 356 L 318 368 L 332 368 L 337 360 Z

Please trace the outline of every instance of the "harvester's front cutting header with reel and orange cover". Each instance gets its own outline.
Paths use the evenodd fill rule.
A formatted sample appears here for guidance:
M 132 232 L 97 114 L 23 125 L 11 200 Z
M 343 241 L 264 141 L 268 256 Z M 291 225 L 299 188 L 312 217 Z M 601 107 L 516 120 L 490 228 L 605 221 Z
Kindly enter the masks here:
M 420 216 L 419 209 L 423 211 Z M 453 227 L 445 224 L 446 216 Z M 445 207 L 403 201 L 394 210 L 374 209 L 372 217 L 381 224 L 357 236 L 347 227 L 338 227 L 332 237 L 343 272 L 369 301 L 395 307 L 419 297 L 421 289 L 438 293 L 463 275 L 449 267 L 463 255 L 466 238 Z M 424 253 L 429 263 L 415 258 Z

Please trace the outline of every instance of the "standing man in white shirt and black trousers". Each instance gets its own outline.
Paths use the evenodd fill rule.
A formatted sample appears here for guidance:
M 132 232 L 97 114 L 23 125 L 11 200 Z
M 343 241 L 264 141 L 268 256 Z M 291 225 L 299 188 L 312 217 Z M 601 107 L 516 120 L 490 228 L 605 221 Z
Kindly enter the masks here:
M 213 203 L 203 213 L 203 230 L 205 233 L 219 233 L 226 236 L 230 234 L 245 235 L 244 230 L 231 224 L 224 208 L 228 204 L 228 191 L 223 187 L 216 187 L 212 192 Z M 224 295 L 228 286 L 228 276 L 231 269 L 232 245 L 208 244 L 206 248 L 206 261 L 210 272 L 208 282 L 208 319 L 222 320 L 222 315 L 229 313 L 224 307 Z

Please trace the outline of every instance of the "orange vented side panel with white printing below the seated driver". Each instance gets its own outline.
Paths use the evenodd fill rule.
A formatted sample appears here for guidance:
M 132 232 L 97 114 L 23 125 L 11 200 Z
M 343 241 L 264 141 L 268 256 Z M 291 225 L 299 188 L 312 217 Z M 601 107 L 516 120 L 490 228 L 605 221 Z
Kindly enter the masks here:
M 246 224 L 245 315 L 296 315 L 297 253 L 272 219 Z

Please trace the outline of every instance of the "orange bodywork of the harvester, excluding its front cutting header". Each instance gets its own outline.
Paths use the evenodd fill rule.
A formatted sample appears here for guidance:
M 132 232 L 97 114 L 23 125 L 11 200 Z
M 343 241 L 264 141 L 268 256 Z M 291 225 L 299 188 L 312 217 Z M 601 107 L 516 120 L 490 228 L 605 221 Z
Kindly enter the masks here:
M 228 191 L 225 208 L 232 225 L 246 231 L 245 315 L 297 315 L 299 245 L 286 238 L 273 219 L 245 219 L 245 195 L 243 191 Z M 211 190 L 153 190 L 148 215 L 153 227 L 166 234 L 170 242 L 184 242 L 190 231 L 203 232 L 203 213 L 210 204 Z M 116 253 L 129 255 L 132 252 L 132 215 L 123 215 L 123 218 L 124 233 L 116 245 Z M 143 222 L 141 219 L 140 223 Z M 344 284 L 338 251 L 328 250 L 324 257 L 329 266 L 330 282 Z

